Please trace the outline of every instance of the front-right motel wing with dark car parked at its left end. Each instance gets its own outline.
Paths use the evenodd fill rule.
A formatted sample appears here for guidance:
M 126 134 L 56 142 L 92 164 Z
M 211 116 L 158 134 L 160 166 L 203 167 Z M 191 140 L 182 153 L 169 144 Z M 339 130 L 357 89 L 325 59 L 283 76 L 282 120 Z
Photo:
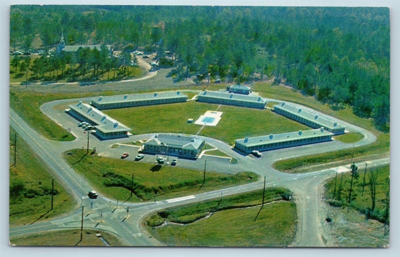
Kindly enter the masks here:
M 279 148 L 308 145 L 332 140 L 333 134 L 323 127 L 306 131 L 269 134 L 268 136 L 246 137 L 235 140 L 234 148 L 245 152 L 267 151 Z

